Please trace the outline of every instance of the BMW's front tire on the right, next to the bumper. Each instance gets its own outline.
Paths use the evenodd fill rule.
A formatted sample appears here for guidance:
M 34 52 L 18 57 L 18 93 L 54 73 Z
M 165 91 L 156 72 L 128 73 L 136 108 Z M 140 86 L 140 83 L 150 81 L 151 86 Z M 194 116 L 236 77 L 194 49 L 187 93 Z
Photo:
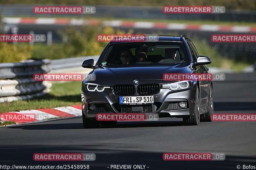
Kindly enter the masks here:
M 184 125 L 199 125 L 200 115 L 199 115 L 199 106 L 200 106 L 200 93 L 198 86 L 196 86 L 196 100 L 195 100 L 195 111 L 194 115 L 183 118 Z

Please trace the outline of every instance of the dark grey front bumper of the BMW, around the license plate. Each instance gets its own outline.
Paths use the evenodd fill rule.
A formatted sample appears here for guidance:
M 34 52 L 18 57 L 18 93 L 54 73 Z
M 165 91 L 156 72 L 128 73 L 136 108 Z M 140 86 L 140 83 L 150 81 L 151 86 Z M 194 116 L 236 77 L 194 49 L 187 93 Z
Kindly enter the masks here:
M 132 95 L 131 95 L 132 96 Z M 133 95 L 141 96 L 141 95 Z M 142 95 L 143 96 L 143 95 Z M 195 110 L 195 96 L 196 96 L 196 82 L 193 83 L 190 89 L 172 91 L 169 89 L 161 89 L 159 93 L 152 95 L 154 97 L 154 104 L 152 112 L 145 114 L 158 114 L 161 117 L 186 117 L 193 115 Z M 87 92 L 82 88 L 82 105 L 83 114 L 88 118 L 95 118 L 98 113 L 122 113 L 120 107 L 132 107 L 134 105 L 120 105 L 120 95 L 116 95 L 112 90 L 105 90 L 104 92 Z M 179 103 L 181 101 L 187 102 L 186 108 L 170 107 L 169 105 Z M 96 106 L 103 106 L 104 109 L 92 111 L 88 108 L 90 104 Z M 132 112 L 133 113 L 133 112 Z M 143 113 L 143 112 L 141 112 Z

